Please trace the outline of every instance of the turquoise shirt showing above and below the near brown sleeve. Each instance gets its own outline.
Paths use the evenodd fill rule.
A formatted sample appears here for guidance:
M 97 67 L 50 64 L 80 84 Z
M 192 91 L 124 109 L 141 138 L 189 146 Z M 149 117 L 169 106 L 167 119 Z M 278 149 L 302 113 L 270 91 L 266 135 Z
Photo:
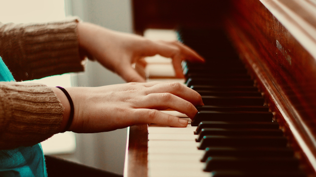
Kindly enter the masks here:
M 1 57 L 0 81 L 14 81 Z M 0 150 L 0 177 L 47 177 L 40 143 L 31 147 Z

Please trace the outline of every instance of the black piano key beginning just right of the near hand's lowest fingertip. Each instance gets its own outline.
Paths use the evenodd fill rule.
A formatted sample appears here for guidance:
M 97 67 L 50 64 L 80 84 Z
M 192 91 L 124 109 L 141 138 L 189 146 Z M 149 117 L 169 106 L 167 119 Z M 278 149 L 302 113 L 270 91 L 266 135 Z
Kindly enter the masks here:
M 266 121 L 272 122 L 271 112 L 254 111 L 200 111 L 193 118 L 191 125 L 197 126 L 201 121 Z

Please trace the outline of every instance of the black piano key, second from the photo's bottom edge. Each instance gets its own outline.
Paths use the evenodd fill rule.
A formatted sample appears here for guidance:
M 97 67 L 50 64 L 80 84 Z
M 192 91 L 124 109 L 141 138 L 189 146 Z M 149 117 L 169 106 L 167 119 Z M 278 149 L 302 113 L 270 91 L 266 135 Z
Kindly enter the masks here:
M 297 170 L 298 160 L 293 157 L 208 157 L 205 162 L 205 172 L 216 170 Z

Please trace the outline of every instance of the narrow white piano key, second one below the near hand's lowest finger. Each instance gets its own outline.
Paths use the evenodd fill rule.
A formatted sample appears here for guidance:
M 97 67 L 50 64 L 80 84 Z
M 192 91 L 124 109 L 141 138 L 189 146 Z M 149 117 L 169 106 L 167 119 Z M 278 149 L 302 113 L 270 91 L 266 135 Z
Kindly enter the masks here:
M 150 133 L 148 134 L 148 140 L 191 140 L 194 141 L 197 135 L 190 134 L 174 134 L 174 133 Z

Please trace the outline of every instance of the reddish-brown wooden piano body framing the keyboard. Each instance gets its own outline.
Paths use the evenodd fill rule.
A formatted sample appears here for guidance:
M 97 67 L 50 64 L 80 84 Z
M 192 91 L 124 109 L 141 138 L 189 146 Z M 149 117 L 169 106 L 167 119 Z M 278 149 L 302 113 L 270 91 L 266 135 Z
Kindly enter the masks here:
M 316 177 L 315 0 L 133 0 L 134 29 L 224 30 L 301 162 Z M 226 55 L 217 42 L 214 58 Z M 147 125 L 129 127 L 124 175 L 147 177 Z

